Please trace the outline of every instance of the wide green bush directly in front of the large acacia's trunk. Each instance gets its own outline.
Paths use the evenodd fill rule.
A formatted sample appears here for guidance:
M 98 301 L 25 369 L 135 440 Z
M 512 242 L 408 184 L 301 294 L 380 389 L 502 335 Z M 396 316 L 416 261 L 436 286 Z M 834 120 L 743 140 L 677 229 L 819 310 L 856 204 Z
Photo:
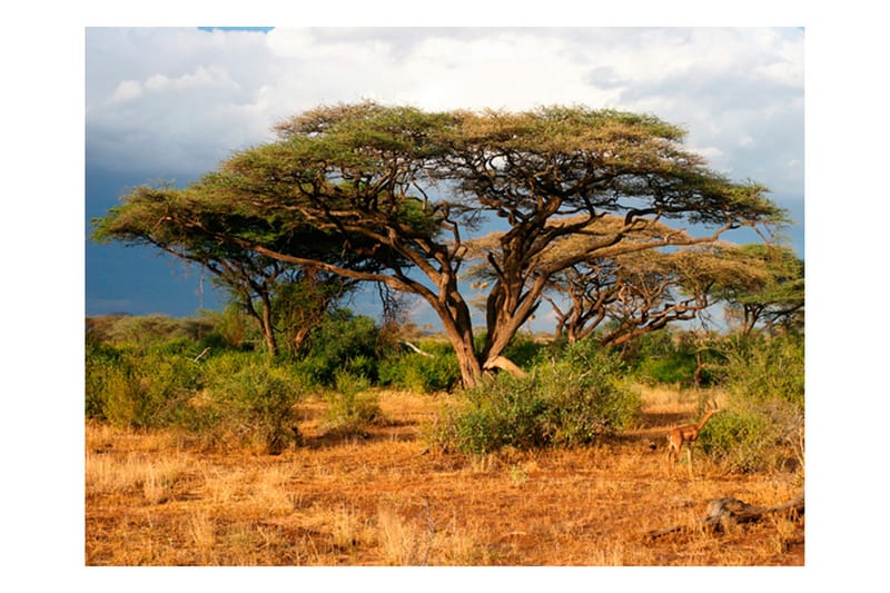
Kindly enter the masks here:
M 530 377 L 500 374 L 465 391 L 432 438 L 464 453 L 590 444 L 625 429 L 639 412 L 639 395 L 622 385 L 622 368 L 614 355 L 581 340 Z

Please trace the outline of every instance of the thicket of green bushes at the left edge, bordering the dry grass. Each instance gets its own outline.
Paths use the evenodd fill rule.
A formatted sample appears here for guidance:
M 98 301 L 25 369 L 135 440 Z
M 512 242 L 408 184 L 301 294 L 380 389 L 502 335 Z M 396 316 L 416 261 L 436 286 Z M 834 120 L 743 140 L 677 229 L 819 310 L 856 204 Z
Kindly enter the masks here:
M 86 415 L 118 427 L 174 427 L 214 445 L 280 451 L 293 439 L 300 377 L 255 353 L 196 360 L 200 343 L 148 347 L 93 343 L 86 356 Z

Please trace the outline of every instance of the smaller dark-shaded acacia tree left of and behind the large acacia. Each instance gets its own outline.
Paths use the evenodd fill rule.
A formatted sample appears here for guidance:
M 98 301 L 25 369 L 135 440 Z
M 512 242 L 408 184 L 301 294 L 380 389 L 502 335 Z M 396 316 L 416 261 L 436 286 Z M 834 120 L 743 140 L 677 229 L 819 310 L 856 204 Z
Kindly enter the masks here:
M 123 205 L 93 223 L 92 238 L 97 241 L 150 245 L 210 271 L 215 283 L 257 323 L 271 356 L 279 350 L 277 335 L 281 333 L 289 336 L 291 349 L 298 349 L 320 323 L 322 314 L 354 285 L 342 276 L 294 266 L 235 241 L 220 241 L 220 229 L 237 227 L 244 236 L 265 243 L 294 243 L 268 220 L 208 209 L 188 190 L 170 186 L 137 187 Z M 305 233 L 307 238 L 312 236 L 312 229 Z M 312 247 L 304 248 L 305 253 L 318 254 L 330 247 L 316 240 L 308 243 Z

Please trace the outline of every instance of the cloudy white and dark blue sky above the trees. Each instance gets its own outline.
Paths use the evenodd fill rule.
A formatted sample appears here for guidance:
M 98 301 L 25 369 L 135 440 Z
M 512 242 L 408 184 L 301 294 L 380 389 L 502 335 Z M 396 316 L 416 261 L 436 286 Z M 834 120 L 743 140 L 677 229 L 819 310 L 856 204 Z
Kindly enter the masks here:
M 319 105 L 585 105 L 685 128 L 713 169 L 770 189 L 802 257 L 804 37 L 800 27 L 87 28 L 86 231 L 126 188 L 196 180 Z M 149 248 L 85 249 L 87 315 L 189 316 L 225 302 L 200 269 Z

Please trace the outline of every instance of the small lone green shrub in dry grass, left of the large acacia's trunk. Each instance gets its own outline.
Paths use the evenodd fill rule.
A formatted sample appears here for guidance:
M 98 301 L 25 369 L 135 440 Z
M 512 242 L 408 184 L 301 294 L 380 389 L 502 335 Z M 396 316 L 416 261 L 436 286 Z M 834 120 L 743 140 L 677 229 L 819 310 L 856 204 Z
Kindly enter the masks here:
M 370 382 L 360 375 L 339 372 L 335 388 L 325 394 L 328 427 L 339 434 L 363 434 L 369 424 L 382 422 L 383 411 Z

